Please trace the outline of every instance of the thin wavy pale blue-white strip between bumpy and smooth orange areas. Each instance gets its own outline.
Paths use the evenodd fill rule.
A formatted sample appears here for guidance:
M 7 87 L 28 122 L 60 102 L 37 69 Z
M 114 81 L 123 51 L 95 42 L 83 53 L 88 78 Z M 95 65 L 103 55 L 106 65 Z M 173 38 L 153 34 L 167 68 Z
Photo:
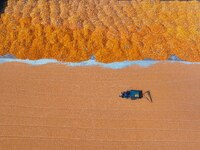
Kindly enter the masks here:
M 157 60 L 136 60 L 136 61 L 123 61 L 123 62 L 113 62 L 113 63 L 101 63 L 97 62 L 96 60 L 88 60 L 82 62 L 61 62 L 55 59 L 39 59 L 39 60 L 29 60 L 29 59 L 13 59 L 13 58 L 0 58 L 0 64 L 7 63 L 7 62 L 20 62 L 26 63 L 29 65 L 44 65 L 50 63 L 56 64 L 63 64 L 67 66 L 101 66 L 105 68 L 112 68 L 112 69 L 121 69 L 125 67 L 129 67 L 132 65 L 138 65 L 141 67 L 148 67 L 154 65 L 159 62 L 168 62 L 168 63 L 183 63 L 183 64 L 200 64 L 200 62 L 187 62 L 187 61 L 157 61 Z

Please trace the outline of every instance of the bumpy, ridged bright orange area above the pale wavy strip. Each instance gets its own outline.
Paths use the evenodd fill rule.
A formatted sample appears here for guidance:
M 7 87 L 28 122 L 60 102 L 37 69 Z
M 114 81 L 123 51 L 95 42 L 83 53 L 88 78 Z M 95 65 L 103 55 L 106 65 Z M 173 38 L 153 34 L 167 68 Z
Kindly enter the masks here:
M 0 55 L 100 62 L 200 61 L 200 2 L 8 0 Z

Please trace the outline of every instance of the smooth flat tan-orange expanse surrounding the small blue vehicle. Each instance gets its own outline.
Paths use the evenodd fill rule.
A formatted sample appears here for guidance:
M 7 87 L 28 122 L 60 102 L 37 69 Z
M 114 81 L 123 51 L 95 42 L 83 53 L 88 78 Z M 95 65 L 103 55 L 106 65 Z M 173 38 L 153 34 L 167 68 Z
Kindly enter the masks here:
M 1 150 L 199 150 L 200 65 L 0 65 Z M 153 103 L 118 97 L 150 90 Z

